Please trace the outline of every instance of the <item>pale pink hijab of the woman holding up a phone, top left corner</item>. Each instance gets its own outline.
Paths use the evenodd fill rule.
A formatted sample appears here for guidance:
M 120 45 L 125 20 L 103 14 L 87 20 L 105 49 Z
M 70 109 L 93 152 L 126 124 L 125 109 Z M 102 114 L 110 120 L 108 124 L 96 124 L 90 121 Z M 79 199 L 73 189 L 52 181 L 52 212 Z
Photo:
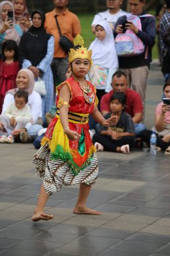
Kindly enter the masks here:
M 13 8 L 13 4 L 9 1 L 2 1 L 0 3 L 0 28 L 2 28 L 3 26 L 3 19 L 2 19 L 2 9 L 4 5 L 9 5 L 11 7 L 11 10 L 14 12 L 14 8 Z M 3 41 L 6 40 L 14 40 L 15 42 L 17 42 L 17 44 L 19 44 L 20 41 L 20 36 L 17 33 L 17 31 L 15 30 L 15 17 L 13 16 L 13 26 L 11 26 L 11 28 L 8 28 L 5 31 L 5 38 L 3 39 Z

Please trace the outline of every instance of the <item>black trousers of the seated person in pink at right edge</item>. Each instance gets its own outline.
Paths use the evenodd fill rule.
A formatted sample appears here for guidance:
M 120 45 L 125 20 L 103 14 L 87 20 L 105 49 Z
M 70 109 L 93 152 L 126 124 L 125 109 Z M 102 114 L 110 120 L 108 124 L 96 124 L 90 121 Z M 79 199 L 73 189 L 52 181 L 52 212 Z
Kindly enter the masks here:
M 146 142 L 148 145 L 150 145 L 150 138 L 151 138 L 152 131 L 151 130 L 144 130 L 140 133 L 140 137 L 142 141 Z M 167 143 L 161 139 L 157 135 L 157 147 L 161 148 L 161 150 L 166 150 L 170 146 L 170 143 Z

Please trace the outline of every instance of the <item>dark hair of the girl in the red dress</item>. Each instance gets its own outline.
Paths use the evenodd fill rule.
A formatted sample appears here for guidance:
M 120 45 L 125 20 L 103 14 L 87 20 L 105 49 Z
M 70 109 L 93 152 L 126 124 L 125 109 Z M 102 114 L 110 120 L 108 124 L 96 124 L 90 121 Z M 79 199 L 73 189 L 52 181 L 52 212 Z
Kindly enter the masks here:
M 14 55 L 13 55 L 13 59 L 14 61 L 17 61 L 19 59 L 19 51 L 18 51 L 18 46 L 17 43 L 14 40 L 6 40 L 5 42 L 3 42 L 3 46 L 2 46 L 2 59 L 3 61 L 5 61 L 6 57 L 4 54 L 4 51 L 14 51 Z

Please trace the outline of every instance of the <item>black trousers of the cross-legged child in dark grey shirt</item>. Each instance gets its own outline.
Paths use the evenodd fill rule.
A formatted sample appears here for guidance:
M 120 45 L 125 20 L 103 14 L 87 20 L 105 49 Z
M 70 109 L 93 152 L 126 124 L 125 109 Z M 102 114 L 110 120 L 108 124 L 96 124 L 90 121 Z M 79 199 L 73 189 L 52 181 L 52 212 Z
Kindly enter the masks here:
M 108 135 L 95 133 L 93 143 L 99 142 L 105 151 L 116 152 L 116 148 L 129 144 L 130 148 L 134 145 L 134 136 L 124 136 L 122 139 L 114 140 Z

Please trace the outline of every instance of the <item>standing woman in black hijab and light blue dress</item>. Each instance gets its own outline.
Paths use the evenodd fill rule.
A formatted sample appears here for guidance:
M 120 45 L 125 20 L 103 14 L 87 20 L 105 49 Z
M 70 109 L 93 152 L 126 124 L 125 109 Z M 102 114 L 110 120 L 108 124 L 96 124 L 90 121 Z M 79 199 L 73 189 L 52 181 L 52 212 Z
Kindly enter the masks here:
M 22 67 L 30 69 L 35 78 L 46 84 L 46 95 L 42 97 L 42 116 L 54 104 L 53 77 L 50 64 L 54 53 L 54 37 L 44 30 L 45 15 L 42 11 L 32 13 L 32 27 L 23 34 L 19 53 Z

